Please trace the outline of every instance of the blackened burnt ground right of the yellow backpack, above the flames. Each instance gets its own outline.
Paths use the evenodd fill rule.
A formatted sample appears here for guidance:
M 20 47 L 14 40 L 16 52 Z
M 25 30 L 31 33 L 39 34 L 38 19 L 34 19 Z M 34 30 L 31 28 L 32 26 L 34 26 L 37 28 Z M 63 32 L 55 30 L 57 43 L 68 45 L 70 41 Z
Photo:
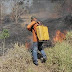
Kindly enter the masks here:
M 44 25 L 48 26 L 50 39 L 52 40 L 57 30 L 61 32 L 72 30 L 72 16 L 68 15 L 62 18 L 47 19 Z

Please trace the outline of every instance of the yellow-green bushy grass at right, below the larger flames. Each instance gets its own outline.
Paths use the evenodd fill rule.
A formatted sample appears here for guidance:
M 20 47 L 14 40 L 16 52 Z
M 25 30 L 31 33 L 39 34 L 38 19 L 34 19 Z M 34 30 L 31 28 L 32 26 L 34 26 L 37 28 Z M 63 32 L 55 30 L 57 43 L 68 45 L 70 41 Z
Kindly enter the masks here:
M 67 40 L 57 43 L 55 47 L 46 49 L 48 60 L 45 64 L 51 72 L 72 72 L 72 41 L 71 32 L 67 34 Z

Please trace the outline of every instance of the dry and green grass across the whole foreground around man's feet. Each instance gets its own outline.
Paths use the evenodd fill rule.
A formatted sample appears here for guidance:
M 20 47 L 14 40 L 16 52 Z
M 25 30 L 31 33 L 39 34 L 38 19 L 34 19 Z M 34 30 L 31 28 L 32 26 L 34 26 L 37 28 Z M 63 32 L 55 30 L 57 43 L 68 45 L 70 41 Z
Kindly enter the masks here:
M 54 47 L 45 48 L 46 63 L 35 66 L 31 52 L 24 45 L 14 45 L 5 56 L 0 57 L 0 72 L 71 72 L 72 71 L 72 31 L 66 40 L 56 43 Z

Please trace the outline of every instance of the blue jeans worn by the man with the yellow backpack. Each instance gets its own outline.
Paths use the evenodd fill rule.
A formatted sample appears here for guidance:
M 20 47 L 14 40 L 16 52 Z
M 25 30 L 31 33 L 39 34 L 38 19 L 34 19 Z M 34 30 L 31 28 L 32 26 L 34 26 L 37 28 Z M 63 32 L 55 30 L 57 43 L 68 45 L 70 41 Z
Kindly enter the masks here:
M 42 48 L 42 42 L 33 42 L 33 48 L 32 48 L 32 55 L 33 55 L 33 60 L 37 62 L 37 52 L 38 50 L 41 52 L 41 55 L 43 58 L 46 58 L 46 54 Z

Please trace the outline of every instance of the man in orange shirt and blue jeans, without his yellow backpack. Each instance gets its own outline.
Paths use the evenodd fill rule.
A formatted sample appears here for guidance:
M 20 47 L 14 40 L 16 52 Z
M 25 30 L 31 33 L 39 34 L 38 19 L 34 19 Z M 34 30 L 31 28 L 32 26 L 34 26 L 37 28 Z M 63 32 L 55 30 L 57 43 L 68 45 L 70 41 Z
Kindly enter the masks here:
M 47 57 L 46 54 L 42 48 L 42 42 L 39 42 L 37 34 L 36 34 L 36 27 L 40 25 L 40 21 L 37 20 L 36 17 L 31 17 L 31 23 L 27 25 L 27 29 L 32 32 L 33 34 L 33 47 L 32 47 L 32 56 L 33 56 L 33 63 L 35 65 L 38 65 L 38 57 L 37 57 L 37 51 L 39 50 L 42 55 L 41 62 L 45 62 Z

